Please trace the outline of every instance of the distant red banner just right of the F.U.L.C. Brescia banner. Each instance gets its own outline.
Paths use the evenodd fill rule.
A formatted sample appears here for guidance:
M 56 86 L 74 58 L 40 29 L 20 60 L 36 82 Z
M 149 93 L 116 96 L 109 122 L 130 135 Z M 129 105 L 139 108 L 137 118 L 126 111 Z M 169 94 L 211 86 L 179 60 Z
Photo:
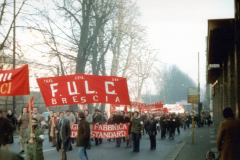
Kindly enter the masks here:
M 131 106 L 133 108 L 138 108 L 139 110 L 163 108 L 163 101 L 154 102 L 154 103 L 131 102 Z

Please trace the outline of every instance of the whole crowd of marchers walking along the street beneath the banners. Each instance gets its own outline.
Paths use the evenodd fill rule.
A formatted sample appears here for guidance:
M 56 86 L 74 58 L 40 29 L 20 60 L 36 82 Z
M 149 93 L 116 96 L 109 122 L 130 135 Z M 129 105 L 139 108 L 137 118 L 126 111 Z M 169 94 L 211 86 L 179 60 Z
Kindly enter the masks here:
M 208 114 L 207 114 L 208 115 Z M 25 153 L 24 144 L 26 144 L 26 159 L 42 160 L 43 151 L 42 143 L 44 141 L 44 131 L 48 124 L 48 140 L 52 142 L 52 147 L 56 147 L 57 151 L 61 151 L 61 159 L 67 159 L 66 152 L 72 150 L 72 144 L 76 142 L 79 147 L 79 157 L 88 159 L 86 149 L 90 149 L 93 141 L 95 146 L 102 144 L 102 138 L 90 138 L 90 124 L 112 124 L 121 125 L 129 123 L 129 133 L 127 137 L 107 139 L 116 142 L 116 147 L 121 146 L 121 142 L 125 143 L 125 148 L 133 148 L 133 152 L 139 152 L 141 135 L 147 134 L 150 139 L 150 149 L 156 149 L 156 135 L 161 131 L 161 139 L 168 138 L 173 140 L 175 130 L 180 134 L 180 127 L 186 130 L 191 124 L 192 118 L 189 114 L 146 114 L 138 112 L 116 111 L 111 113 L 110 117 L 106 112 L 103 114 L 100 110 L 95 109 L 93 114 L 89 114 L 86 109 L 84 112 L 62 111 L 49 112 L 48 121 L 39 113 L 38 108 L 33 108 L 31 124 L 29 119 L 30 114 L 26 107 L 22 108 L 18 118 L 8 110 L 6 117 L 2 116 L 0 111 L 0 146 L 8 150 L 8 144 L 13 143 L 13 131 L 19 130 L 20 153 Z M 197 116 L 196 116 L 197 117 Z M 196 118 L 195 117 L 195 118 Z M 202 116 L 201 116 L 202 117 Z M 207 116 L 206 116 L 207 117 Z M 202 122 L 202 121 L 201 121 Z M 77 138 L 70 138 L 71 125 L 78 124 Z M 204 122 L 203 122 L 204 124 Z M 32 127 L 29 127 L 32 125 Z

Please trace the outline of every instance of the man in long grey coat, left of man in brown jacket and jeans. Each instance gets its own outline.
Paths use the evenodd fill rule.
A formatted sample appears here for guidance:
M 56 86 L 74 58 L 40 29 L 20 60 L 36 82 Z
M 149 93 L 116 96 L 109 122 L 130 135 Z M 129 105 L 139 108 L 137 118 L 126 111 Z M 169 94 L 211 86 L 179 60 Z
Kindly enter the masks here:
M 57 151 L 61 149 L 61 160 L 66 160 L 66 152 L 72 150 L 72 145 L 70 142 L 71 127 L 69 120 L 64 118 L 63 112 L 60 113 L 60 119 L 58 119 L 56 122 L 55 133 L 57 134 L 56 149 Z

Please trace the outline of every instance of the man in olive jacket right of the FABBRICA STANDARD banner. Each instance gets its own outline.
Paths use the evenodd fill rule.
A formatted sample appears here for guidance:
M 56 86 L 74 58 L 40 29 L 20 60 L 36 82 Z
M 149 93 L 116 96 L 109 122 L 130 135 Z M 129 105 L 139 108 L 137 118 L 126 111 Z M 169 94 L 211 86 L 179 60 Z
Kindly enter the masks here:
M 131 132 L 133 140 L 133 152 L 139 152 L 139 141 L 141 133 L 143 133 L 143 121 L 141 117 L 138 117 L 139 113 L 134 112 L 134 116 L 131 117 Z

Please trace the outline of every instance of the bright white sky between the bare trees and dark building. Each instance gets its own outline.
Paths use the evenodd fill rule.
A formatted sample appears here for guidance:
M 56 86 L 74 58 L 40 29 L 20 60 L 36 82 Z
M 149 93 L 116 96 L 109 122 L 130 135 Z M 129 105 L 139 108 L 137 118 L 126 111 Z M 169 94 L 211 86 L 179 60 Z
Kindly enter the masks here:
M 176 64 L 198 79 L 200 53 L 201 88 L 206 83 L 208 19 L 234 18 L 234 0 L 137 0 L 149 41 L 167 65 Z

